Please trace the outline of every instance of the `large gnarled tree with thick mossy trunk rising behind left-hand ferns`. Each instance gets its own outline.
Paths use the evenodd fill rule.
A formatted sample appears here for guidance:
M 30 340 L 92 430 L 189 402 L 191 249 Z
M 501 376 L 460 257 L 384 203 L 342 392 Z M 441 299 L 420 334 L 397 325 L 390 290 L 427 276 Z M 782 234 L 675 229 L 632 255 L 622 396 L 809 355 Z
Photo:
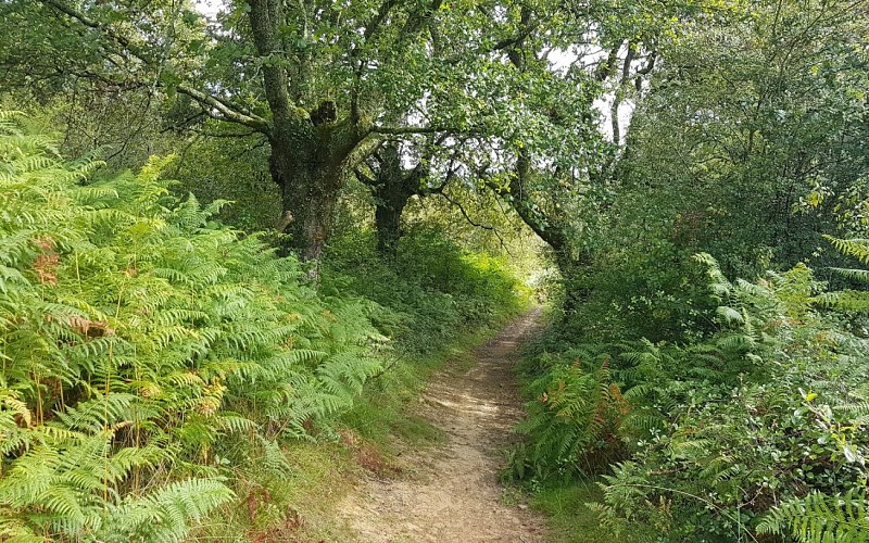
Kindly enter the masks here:
M 405 111 L 408 97 L 420 96 L 418 81 L 399 80 L 396 70 L 412 59 L 425 61 L 420 36 L 441 4 L 234 2 L 223 25 L 210 27 L 210 40 L 191 45 L 204 68 L 190 70 L 152 52 L 173 39 L 155 31 L 155 20 L 166 16 L 159 9 L 41 3 L 63 16 L 59 23 L 66 30 L 99 34 L 103 59 L 111 53 L 139 61 L 155 87 L 188 97 L 214 119 L 242 126 L 244 135 L 263 134 L 282 193 L 286 230 L 306 260 L 322 254 L 344 176 L 358 157 L 354 153 L 364 155 L 366 141 L 390 130 L 377 126 L 379 115 L 389 108 Z M 106 4 L 115 3 L 118 11 L 112 12 Z M 172 28 L 196 22 L 190 10 L 176 11 Z

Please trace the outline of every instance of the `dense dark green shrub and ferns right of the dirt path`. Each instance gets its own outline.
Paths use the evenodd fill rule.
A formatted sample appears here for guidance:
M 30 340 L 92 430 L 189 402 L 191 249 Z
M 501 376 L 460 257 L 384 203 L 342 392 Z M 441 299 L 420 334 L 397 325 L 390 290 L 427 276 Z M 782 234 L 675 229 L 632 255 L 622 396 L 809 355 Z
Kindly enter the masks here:
M 667 541 L 853 540 L 869 528 L 869 343 L 821 307 L 861 306 L 862 294 L 824 294 L 804 265 L 731 283 L 698 261 L 718 303 L 714 334 L 529 364 L 536 397 L 514 475 L 605 473 L 594 507 L 622 534 L 651 525 Z

